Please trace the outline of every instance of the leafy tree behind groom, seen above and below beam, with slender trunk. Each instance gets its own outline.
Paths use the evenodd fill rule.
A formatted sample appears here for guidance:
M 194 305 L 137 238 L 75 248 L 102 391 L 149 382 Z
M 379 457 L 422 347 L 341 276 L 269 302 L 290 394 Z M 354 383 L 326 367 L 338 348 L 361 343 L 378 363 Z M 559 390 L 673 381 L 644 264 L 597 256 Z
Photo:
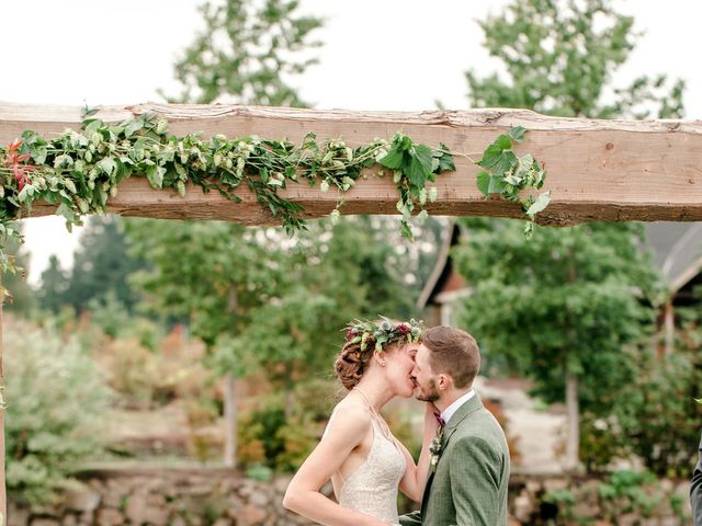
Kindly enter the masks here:
M 641 76 L 613 87 L 638 35 L 634 20 L 609 0 L 513 0 L 478 23 L 502 71 L 466 73 L 475 107 L 590 118 L 682 115 L 682 81 L 670 87 L 665 76 Z M 607 415 L 607 393 L 636 376 L 623 350 L 647 333 L 657 281 L 641 251 L 641 229 L 542 228 L 530 242 L 509 224 L 467 224 L 474 230 L 456 258 L 475 296 L 463 320 L 484 338 L 492 362 L 533 378 L 545 400 L 568 398 L 570 382 L 568 446 L 577 448 L 574 413 L 586 411 L 590 421 Z

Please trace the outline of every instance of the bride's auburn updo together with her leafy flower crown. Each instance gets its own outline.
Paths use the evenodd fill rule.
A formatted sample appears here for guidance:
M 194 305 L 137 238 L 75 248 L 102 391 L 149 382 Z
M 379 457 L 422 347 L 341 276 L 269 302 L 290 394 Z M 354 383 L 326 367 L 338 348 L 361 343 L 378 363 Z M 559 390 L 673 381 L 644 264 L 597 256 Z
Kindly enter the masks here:
M 381 354 L 392 345 L 418 342 L 423 324 L 409 320 L 397 322 L 381 318 L 380 321 L 354 321 L 347 325 L 347 341 L 333 364 L 341 385 L 351 390 L 365 374 L 375 353 Z

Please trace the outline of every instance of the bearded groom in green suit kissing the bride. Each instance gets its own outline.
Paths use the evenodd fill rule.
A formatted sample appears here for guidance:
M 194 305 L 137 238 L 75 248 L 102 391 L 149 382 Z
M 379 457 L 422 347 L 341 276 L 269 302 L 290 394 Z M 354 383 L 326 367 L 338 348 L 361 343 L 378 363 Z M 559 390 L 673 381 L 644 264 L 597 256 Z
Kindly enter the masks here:
M 506 525 L 509 449 L 502 428 L 473 389 L 478 346 L 467 332 L 450 327 L 426 330 L 421 342 L 411 373 L 415 398 L 433 402 L 445 425 L 432 447 L 421 512 L 403 515 L 400 524 Z

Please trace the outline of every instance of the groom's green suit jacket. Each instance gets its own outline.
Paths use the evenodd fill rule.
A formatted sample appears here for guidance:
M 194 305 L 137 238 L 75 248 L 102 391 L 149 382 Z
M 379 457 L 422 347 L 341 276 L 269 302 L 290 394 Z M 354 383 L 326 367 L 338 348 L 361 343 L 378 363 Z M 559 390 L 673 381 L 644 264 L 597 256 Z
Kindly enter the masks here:
M 403 526 L 507 524 L 509 449 L 500 424 L 477 393 L 451 416 L 435 472 L 429 473 L 421 512 Z

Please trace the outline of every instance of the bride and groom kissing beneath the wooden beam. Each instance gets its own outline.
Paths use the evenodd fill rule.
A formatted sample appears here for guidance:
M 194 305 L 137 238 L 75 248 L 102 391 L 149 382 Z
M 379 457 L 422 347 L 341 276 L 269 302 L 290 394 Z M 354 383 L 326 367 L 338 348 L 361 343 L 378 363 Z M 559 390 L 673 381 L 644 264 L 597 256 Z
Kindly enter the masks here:
M 335 369 L 347 396 L 292 479 L 283 505 L 328 526 L 507 524 L 505 433 L 473 389 L 475 339 L 421 322 L 353 322 Z M 424 402 L 419 459 L 381 414 L 395 397 Z M 331 479 L 337 502 L 320 492 Z M 421 511 L 398 516 L 398 489 Z

